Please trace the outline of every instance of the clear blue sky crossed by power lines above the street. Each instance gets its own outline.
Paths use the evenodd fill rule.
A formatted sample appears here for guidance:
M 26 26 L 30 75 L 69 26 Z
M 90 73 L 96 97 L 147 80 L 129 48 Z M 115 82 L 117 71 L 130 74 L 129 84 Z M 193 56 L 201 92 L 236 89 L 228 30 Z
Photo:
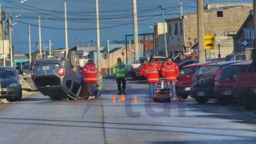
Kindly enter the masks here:
M 6 13 L 12 16 L 12 45 L 14 53 L 28 52 L 28 24 L 31 25 L 32 51 L 36 50 L 38 16 L 41 17 L 41 41 L 52 48 L 64 48 L 64 0 L 0 0 Z M 196 0 L 181 0 L 183 13 L 196 11 Z M 133 34 L 133 0 L 98 0 L 100 16 L 100 46 L 107 40 L 124 40 Z M 240 3 L 252 0 L 206 0 L 206 3 Z M 68 46 L 96 45 L 95 0 L 66 0 L 68 12 Z M 154 33 L 154 24 L 162 22 L 160 5 L 165 19 L 179 16 L 179 0 L 137 0 L 139 33 Z M 132 38 L 131 38 L 132 39 Z M 43 45 L 42 45 L 43 47 Z

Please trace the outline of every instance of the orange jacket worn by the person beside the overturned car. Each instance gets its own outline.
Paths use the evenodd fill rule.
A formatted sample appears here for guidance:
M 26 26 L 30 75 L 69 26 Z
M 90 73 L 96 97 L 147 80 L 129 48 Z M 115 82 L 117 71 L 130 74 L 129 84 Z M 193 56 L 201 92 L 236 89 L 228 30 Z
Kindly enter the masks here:
M 96 69 L 93 63 L 89 63 L 83 66 L 82 73 L 83 73 L 84 82 L 98 82 L 97 80 L 98 69 Z

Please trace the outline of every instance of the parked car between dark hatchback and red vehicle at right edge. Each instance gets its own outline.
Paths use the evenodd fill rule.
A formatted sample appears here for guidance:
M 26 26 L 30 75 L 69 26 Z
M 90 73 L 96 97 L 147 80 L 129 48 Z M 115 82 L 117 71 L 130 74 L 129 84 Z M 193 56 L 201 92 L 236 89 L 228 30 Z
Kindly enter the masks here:
M 221 74 L 215 81 L 215 96 L 221 105 L 228 105 L 234 97 L 242 98 L 241 95 L 234 95 L 234 74 L 245 73 L 249 69 L 251 61 L 234 63 L 221 70 Z

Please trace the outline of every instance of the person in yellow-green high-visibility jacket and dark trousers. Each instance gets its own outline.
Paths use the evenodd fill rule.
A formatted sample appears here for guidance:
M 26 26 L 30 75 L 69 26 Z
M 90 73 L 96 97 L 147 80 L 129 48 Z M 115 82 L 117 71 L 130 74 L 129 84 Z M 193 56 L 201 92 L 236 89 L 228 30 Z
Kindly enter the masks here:
M 125 86 L 126 86 L 125 71 L 126 71 L 126 65 L 121 61 L 121 58 L 117 58 L 117 63 L 113 67 L 113 73 L 116 74 L 116 82 L 117 82 L 119 95 L 125 94 Z

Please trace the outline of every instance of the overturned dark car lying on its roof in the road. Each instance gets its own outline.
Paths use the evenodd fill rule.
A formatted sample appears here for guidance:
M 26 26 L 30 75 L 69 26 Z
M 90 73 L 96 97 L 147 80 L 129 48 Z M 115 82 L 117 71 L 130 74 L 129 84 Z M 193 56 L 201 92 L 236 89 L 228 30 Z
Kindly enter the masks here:
M 66 58 L 35 60 L 32 79 L 37 89 L 51 99 L 77 99 L 83 84 L 76 60 Z

